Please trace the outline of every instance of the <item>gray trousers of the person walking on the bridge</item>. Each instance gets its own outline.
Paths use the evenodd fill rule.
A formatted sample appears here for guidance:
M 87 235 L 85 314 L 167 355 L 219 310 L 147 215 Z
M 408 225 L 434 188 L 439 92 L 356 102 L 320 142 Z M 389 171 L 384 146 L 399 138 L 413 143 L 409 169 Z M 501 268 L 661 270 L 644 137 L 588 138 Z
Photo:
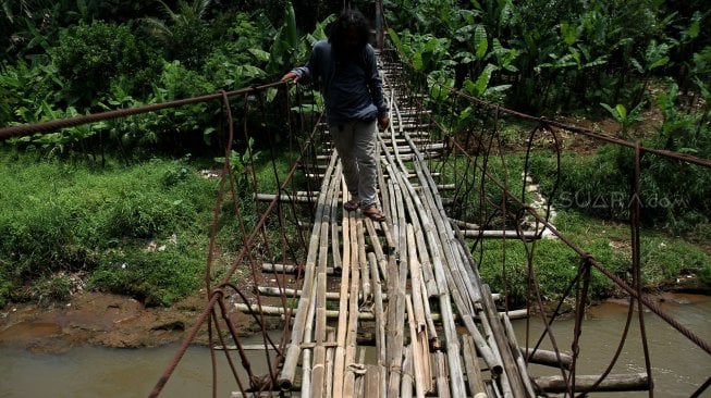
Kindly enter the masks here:
M 333 144 L 341 158 L 345 185 L 352 198 L 361 206 L 375 204 L 378 153 L 376 153 L 376 120 L 351 121 L 330 126 Z

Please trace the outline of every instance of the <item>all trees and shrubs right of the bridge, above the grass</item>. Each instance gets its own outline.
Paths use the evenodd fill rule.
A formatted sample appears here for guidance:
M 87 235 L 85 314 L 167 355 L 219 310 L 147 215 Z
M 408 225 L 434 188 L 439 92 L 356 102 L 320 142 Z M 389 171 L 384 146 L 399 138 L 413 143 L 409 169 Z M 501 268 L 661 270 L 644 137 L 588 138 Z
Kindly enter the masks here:
M 703 29 L 711 14 L 701 2 L 385 4 L 393 43 L 424 76 L 437 121 L 455 137 L 469 139 L 493 122 L 470 101 L 455 100 L 451 88 L 549 117 L 611 116 L 620 128 L 604 134 L 711 159 L 711 35 Z M 559 164 L 547 153 L 531 160 L 529 172 L 557 206 L 627 220 L 633 159 L 620 148 L 566 154 L 557 181 Z M 708 169 L 646 154 L 641 170 L 647 225 L 673 233 L 708 225 Z

